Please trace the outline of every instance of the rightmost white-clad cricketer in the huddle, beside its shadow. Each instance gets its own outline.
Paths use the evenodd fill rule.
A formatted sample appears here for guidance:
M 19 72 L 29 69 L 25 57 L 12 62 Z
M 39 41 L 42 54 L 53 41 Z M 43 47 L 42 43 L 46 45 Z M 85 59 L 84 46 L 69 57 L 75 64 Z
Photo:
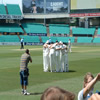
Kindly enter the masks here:
M 67 46 L 60 41 L 61 44 L 61 72 L 68 72 L 69 71 L 69 64 L 68 64 L 68 50 Z

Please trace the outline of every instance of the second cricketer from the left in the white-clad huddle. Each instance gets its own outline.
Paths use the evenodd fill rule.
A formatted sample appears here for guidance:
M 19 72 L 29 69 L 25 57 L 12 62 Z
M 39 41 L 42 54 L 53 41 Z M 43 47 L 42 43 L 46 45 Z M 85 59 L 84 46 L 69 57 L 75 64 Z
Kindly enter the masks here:
M 55 44 L 51 43 L 49 49 L 50 49 L 50 53 L 49 53 L 50 71 L 55 72 Z

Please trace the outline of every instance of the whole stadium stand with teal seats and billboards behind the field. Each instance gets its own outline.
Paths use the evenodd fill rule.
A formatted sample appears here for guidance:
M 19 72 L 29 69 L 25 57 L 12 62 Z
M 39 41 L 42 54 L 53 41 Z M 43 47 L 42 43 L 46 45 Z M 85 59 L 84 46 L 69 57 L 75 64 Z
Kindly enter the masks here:
M 90 3 L 91 2 L 91 3 Z M 1 0 L 0 45 L 100 43 L 99 0 Z

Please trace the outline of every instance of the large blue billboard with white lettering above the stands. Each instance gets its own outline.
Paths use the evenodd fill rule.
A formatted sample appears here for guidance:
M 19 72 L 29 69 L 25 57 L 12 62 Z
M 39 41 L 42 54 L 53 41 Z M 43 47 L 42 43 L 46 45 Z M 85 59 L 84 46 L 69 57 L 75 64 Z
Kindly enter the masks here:
M 68 10 L 69 0 L 23 0 L 23 13 L 67 13 Z

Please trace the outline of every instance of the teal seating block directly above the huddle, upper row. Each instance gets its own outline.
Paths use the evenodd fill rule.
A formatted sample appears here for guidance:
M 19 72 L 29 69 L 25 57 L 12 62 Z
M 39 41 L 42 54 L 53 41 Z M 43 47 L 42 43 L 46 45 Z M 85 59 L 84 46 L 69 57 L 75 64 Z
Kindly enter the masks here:
M 50 34 L 68 34 L 70 33 L 69 25 L 67 24 L 49 24 Z

